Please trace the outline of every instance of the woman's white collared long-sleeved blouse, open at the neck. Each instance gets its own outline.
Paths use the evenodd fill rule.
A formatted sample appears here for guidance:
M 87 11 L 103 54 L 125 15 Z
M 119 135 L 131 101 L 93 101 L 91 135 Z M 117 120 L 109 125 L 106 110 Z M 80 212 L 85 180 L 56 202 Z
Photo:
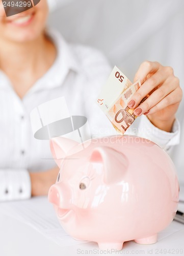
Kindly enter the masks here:
M 48 35 L 57 48 L 54 65 L 20 99 L 8 77 L 0 71 L 0 201 L 31 196 L 29 172 L 40 172 L 56 166 L 48 140 L 34 138 L 30 112 L 41 103 L 64 96 L 70 115 L 88 118 L 93 137 L 116 134 L 95 100 L 111 73 L 106 58 L 87 46 L 69 45 L 56 31 Z M 161 145 L 165 150 L 179 142 L 179 125 L 173 133 L 156 129 L 144 116 L 139 118 L 138 132 L 127 133 Z M 153 129 L 154 128 L 154 129 Z

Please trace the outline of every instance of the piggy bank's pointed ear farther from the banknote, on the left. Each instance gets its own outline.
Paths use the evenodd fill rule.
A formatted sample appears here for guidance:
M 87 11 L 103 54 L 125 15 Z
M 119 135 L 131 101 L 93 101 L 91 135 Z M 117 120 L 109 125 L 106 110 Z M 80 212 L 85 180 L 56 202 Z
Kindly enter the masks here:
M 64 137 L 56 137 L 50 139 L 50 150 L 55 162 L 59 167 L 61 167 L 61 163 L 67 156 L 68 151 L 78 144 L 79 143 L 77 141 Z

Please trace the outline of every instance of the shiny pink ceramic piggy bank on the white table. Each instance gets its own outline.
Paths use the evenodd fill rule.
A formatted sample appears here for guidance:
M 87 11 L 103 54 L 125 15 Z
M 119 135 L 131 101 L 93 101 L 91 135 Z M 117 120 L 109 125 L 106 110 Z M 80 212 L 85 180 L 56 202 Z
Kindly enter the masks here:
M 129 240 L 155 243 L 177 210 L 179 185 L 170 157 L 136 136 L 93 139 L 78 150 L 81 145 L 64 138 L 50 143 L 60 172 L 48 200 L 66 232 L 100 249 L 121 250 Z

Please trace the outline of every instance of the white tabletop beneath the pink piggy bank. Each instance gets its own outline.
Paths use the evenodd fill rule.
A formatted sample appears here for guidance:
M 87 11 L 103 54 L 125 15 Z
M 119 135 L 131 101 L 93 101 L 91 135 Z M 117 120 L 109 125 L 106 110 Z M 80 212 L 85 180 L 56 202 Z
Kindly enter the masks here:
M 41 205 L 45 198 L 31 199 L 34 204 Z M 18 202 L 17 202 L 18 203 Z M 19 202 L 20 203 L 20 202 Z M 26 204 L 22 201 L 21 204 Z M 158 242 L 152 245 L 139 245 L 134 241 L 125 242 L 120 252 L 99 250 L 96 243 L 77 244 L 72 246 L 59 245 L 45 237 L 33 226 L 11 216 L 6 212 L 7 206 L 15 202 L 0 203 L 0 255 L 1 256 L 75 256 L 75 255 L 183 255 L 184 253 L 184 224 L 173 221 L 169 227 L 159 233 Z M 49 204 L 48 204 L 49 207 Z M 13 208 L 12 208 L 13 209 Z M 184 209 L 184 204 L 179 204 Z M 55 218 L 55 212 L 51 211 Z M 181 253 L 183 251 L 183 253 Z

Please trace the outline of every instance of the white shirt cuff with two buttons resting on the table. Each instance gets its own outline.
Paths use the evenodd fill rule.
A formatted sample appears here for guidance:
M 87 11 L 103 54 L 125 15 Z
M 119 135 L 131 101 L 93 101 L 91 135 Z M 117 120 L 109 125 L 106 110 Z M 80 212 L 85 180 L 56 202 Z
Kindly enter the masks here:
M 31 198 L 31 179 L 28 170 L 0 169 L 0 201 Z

